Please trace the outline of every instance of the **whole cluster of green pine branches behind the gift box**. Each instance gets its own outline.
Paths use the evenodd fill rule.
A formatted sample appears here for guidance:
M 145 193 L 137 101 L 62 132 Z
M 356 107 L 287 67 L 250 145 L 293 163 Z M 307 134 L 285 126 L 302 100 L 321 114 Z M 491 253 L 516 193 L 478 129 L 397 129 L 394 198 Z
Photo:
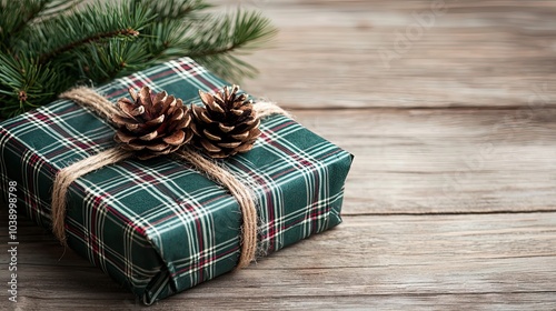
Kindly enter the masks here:
M 207 13 L 205 0 L 77 3 L 0 0 L 0 119 L 182 56 L 226 79 L 252 77 L 236 54 L 276 32 L 258 13 Z

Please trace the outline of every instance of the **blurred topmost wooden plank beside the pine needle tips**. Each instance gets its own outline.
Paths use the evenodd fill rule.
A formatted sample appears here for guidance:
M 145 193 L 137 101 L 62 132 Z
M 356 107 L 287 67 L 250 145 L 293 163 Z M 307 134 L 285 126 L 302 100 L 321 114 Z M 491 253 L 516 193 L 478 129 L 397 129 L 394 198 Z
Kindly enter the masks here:
M 433 0 L 219 2 L 279 28 L 246 58 L 262 73 L 242 87 L 289 107 L 556 104 L 552 1 L 446 0 L 438 14 Z

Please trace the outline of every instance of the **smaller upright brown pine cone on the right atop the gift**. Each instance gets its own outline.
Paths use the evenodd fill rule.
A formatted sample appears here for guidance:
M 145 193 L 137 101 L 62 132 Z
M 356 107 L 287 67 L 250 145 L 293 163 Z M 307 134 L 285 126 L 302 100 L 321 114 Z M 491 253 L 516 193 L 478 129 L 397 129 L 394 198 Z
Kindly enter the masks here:
M 199 91 L 205 107 L 191 106 L 193 144 L 212 158 L 247 152 L 260 136 L 260 120 L 247 94 L 237 96 L 239 87 L 228 87 L 216 94 Z

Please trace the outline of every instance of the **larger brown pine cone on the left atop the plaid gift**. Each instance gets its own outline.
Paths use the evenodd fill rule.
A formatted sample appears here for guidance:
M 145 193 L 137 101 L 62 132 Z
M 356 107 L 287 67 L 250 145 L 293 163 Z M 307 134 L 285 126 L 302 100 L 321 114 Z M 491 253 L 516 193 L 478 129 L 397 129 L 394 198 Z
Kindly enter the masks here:
M 123 149 L 146 160 L 173 152 L 191 140 L 191 116 L 181 99 L 166 91 L 153 93 L 148 87 L 128 91 L 133 100 L 118 100 L 120 113 L 112 116 L 119 126 L 115 140 Z

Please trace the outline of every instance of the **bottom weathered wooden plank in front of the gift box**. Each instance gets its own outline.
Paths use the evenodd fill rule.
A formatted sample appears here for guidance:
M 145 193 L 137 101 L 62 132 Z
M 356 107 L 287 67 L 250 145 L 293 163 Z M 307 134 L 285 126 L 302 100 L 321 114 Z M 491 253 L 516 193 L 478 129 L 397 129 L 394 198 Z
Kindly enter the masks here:
M 21 310 L 139 304 L 71 250 L 60 259 L 63 249 L 29 220 L 19 225 Z M 0 233 L 6 244 L 4 230 Z M 335 230 L 152 309 L 550 310 L 555 239 L 556 213 L 346 217 Z

